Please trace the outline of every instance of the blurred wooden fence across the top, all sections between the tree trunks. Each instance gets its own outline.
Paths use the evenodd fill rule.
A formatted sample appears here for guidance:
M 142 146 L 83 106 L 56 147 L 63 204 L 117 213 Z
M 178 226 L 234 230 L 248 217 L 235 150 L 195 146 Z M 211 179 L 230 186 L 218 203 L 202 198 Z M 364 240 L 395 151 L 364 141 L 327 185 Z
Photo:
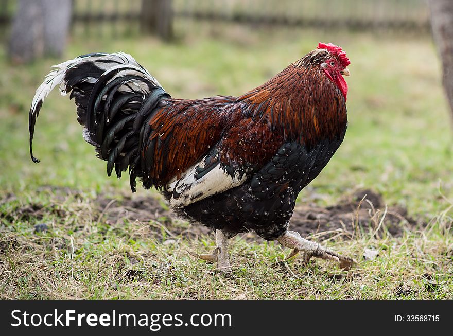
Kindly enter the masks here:
M 74 33 L 118 36 L 141 31 L 146 14 L 142 10 L 143 2 L 151 0 L 73 1 Z M 11 22 L 15 7 L 16 0 L 0 0 L 0 28 L 3 27 L 3 31 Z M 175 20 L 203 20 L 212 24 L 222 21 L 415 32 L 429 29 L 425 0 L 173 0 L 172 13 Z

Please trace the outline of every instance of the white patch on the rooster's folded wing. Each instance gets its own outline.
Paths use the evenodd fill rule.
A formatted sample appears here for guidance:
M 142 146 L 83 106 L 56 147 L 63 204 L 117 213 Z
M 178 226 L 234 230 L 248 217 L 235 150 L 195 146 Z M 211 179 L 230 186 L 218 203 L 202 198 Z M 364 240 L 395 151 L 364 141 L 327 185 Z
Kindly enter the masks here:
M 204 158 L 199 164 L 190 167 L 179 180 L 171 179 L 166 187 L 167 191 L 173 192 L 170 205 L 175 208 L 187 206 L 207 197 L 213 196 L 225 190 L 240 186 L 247 179 L 245 173 L 236 172 L 231 176 L 218 163 L 210 172 L 200 179 L 195 178 L 197 167 L 204 166 Z M 173 198 L 179 194 L 177 198 Z

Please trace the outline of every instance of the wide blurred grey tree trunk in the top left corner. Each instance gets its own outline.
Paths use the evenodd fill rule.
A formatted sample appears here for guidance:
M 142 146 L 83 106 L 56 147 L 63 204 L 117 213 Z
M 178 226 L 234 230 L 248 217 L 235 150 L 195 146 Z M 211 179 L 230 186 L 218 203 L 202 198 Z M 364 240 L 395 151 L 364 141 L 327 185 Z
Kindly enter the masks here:
M 72 0 L 19 0 L 8 55 L 29 62 L 44 55 L 61 56 L 71 21 Z

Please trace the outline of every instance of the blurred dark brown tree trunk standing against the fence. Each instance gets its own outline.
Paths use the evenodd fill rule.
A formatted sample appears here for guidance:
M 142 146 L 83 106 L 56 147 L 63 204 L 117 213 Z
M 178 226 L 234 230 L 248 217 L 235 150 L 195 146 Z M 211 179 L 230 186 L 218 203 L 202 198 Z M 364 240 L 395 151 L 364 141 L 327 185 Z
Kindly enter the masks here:
M 173 37 L 171 0 L 142 0 L 141 28 L 163 40 Z

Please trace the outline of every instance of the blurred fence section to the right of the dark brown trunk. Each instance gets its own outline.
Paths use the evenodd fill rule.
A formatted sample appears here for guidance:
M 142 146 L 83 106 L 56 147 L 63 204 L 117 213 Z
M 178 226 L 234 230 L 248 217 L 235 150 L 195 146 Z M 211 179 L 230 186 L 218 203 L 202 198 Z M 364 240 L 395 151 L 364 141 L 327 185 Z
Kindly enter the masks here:
M 425 0 L 173 0 L 198 20 L 346 29 L 429 28 Z

